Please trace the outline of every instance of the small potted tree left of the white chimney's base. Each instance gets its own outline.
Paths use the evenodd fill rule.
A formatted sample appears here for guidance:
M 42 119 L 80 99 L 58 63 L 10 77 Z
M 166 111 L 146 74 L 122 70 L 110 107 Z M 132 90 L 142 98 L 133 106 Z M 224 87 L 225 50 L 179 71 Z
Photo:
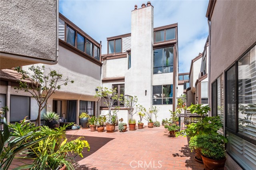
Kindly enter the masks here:
M 108 107 L 108 116 L 109 116 L 109 123 L 112 123 L 112 115 L 111 115 L 111 109 L 114 106 L 115 102 L 122 102 L 123 95 L 121 94 L 118 96 L 118 93 L 115 89 L 108 89 L 107 87 L 97 87 L 98 91 L 96 91 L 96 95 L 94 97 L 100 97 L 104 100 L 104 104 Z M 115 107 L 115 109 L 117 109 Z

